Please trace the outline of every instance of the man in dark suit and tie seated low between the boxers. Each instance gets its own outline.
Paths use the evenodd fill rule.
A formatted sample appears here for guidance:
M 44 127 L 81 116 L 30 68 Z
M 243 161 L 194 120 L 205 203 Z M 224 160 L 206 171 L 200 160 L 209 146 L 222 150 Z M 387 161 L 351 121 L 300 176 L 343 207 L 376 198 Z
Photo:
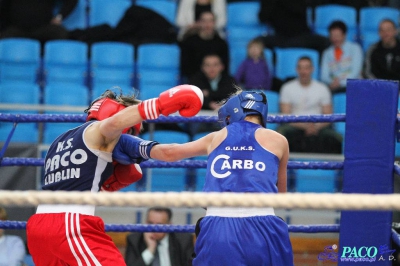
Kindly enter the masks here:
M 171 224 L 169 208 L 147 210 L 147 224 Z M 194 238 L 190 233 L 132 233 L 127 237 L 127 266 L 191 265 Z

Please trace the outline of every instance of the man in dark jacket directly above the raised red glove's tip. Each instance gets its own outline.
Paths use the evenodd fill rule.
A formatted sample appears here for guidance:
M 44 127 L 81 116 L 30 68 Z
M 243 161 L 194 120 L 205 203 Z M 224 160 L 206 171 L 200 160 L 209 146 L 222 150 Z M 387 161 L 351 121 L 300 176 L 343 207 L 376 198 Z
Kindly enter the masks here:
M 235 92 L 235 80 L 224 68 L 219 55 L 208 54 L 203 58 L 201 70 L 190 78 L 189 83 L 203 91 L 203 110 L 217 110 L 219 102 Z

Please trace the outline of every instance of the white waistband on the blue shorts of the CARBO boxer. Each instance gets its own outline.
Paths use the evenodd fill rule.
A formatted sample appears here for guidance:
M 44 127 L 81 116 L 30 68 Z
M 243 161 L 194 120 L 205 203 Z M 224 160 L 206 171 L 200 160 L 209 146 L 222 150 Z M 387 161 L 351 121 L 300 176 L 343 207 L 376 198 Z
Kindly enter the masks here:
M 251 217 L 275 215 L 274 208 L 208 207 L 206 216 Z

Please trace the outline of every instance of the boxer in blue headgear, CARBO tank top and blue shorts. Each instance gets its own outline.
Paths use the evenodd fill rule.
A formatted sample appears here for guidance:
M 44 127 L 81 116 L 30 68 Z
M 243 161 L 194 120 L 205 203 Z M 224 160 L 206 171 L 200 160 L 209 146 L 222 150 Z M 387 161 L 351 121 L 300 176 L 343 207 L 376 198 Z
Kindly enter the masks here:
M 204 192 L 284 193 L 289 146 L 283 135 L 265 128 L 267 114 L 264 93 L 239 89 L 219 109 L 222 129 L 188 143 L 152 146 L 150 157 L 208 155 Z M 273 208 L 208 206 L 196 235 L 194 266 L 293 266 L 287 224 Z

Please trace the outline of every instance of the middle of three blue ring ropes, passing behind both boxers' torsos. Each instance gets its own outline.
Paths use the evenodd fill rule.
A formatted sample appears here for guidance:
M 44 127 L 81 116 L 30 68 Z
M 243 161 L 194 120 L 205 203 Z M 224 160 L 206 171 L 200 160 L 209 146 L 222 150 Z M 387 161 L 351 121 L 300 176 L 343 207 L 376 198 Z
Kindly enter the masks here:
M 43 166 L 43 158 L 3 158 L 0 166 Z M 207 160 L 181 160 L 162 162 L 149 160 L 140 163 L 141 168 L 207 168 Z M 343 162 L 297 162 L 289 161 L 288 169 L 343 169 Z

